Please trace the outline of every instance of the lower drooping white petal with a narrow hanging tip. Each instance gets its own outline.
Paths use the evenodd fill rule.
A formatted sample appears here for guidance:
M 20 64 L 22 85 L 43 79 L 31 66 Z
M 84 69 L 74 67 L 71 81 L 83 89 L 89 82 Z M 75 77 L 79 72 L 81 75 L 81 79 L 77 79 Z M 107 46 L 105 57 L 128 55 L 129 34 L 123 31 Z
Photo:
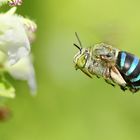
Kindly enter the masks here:
M 32 95 L 36 94 L 37 86 L 35 71 L 32 64 L 32 58 L 30 56 L 22 58 L 12 66 L 6 63 L 5 69 L 14 79 L 26 80 L 28 82 Z

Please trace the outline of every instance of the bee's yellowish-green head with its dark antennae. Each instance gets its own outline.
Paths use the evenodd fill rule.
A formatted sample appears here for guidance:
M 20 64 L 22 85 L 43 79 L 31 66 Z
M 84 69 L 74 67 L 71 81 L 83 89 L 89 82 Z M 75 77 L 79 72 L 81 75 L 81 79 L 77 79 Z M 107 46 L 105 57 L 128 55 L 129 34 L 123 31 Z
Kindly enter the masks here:
M 79 41 L 80 47 L 76 44 L 74 44 L 74 46 L 76 48 L 78 48 L 79 52 L 74 56 L 74 64 L 75 64 L 75 69 L 80 69 L 81 71 L 83 71 L 86 75 L 88 75 L 89 77 L 92 77 L 91 74 L 88 72 L 88 69 L 86 68 L 86 64 L 90 58 L 90 48 L 82 48 L 82 44 L 76 34 L 76 37 Z

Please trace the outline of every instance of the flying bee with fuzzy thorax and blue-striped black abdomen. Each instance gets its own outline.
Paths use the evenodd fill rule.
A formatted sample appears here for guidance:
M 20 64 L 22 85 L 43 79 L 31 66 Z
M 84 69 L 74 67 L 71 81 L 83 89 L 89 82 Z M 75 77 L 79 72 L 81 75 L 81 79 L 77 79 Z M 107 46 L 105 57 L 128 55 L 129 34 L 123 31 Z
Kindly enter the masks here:
M 140 89 L 140 60 L 135 55 L 121 51 L 111 45 L 100 43 L 83 48 L 77 35 L 79 45 L 74 44 L 79 52 L 74 56 L 75 68 L 80 69 L 90 78 L 102 77 L 108 84 L 132 93 Z

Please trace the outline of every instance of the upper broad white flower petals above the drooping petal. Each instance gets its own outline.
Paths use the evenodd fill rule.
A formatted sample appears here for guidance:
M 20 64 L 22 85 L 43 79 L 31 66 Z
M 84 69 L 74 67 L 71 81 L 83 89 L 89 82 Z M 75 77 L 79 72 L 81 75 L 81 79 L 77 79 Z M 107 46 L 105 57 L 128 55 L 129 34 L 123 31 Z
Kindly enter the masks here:
M 13 7 L 7 13 L 0 14 L 0 50 L 8 56 L 11 65 L 30 52 L 34 30 L 28 30 L 27 25 L 31 29 L 36 28 L 33 21 L 15 14 L 15 11 Z

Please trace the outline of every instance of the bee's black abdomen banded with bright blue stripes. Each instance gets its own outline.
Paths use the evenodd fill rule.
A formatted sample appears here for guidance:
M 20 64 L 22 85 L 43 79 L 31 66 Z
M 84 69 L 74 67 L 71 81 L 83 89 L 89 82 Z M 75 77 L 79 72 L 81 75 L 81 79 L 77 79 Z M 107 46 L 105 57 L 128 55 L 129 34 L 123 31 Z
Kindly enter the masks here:
M 140 59 L 138 57 L 120 51 L 116 65 L 126 82 L 134 88 L 140 88 Z

